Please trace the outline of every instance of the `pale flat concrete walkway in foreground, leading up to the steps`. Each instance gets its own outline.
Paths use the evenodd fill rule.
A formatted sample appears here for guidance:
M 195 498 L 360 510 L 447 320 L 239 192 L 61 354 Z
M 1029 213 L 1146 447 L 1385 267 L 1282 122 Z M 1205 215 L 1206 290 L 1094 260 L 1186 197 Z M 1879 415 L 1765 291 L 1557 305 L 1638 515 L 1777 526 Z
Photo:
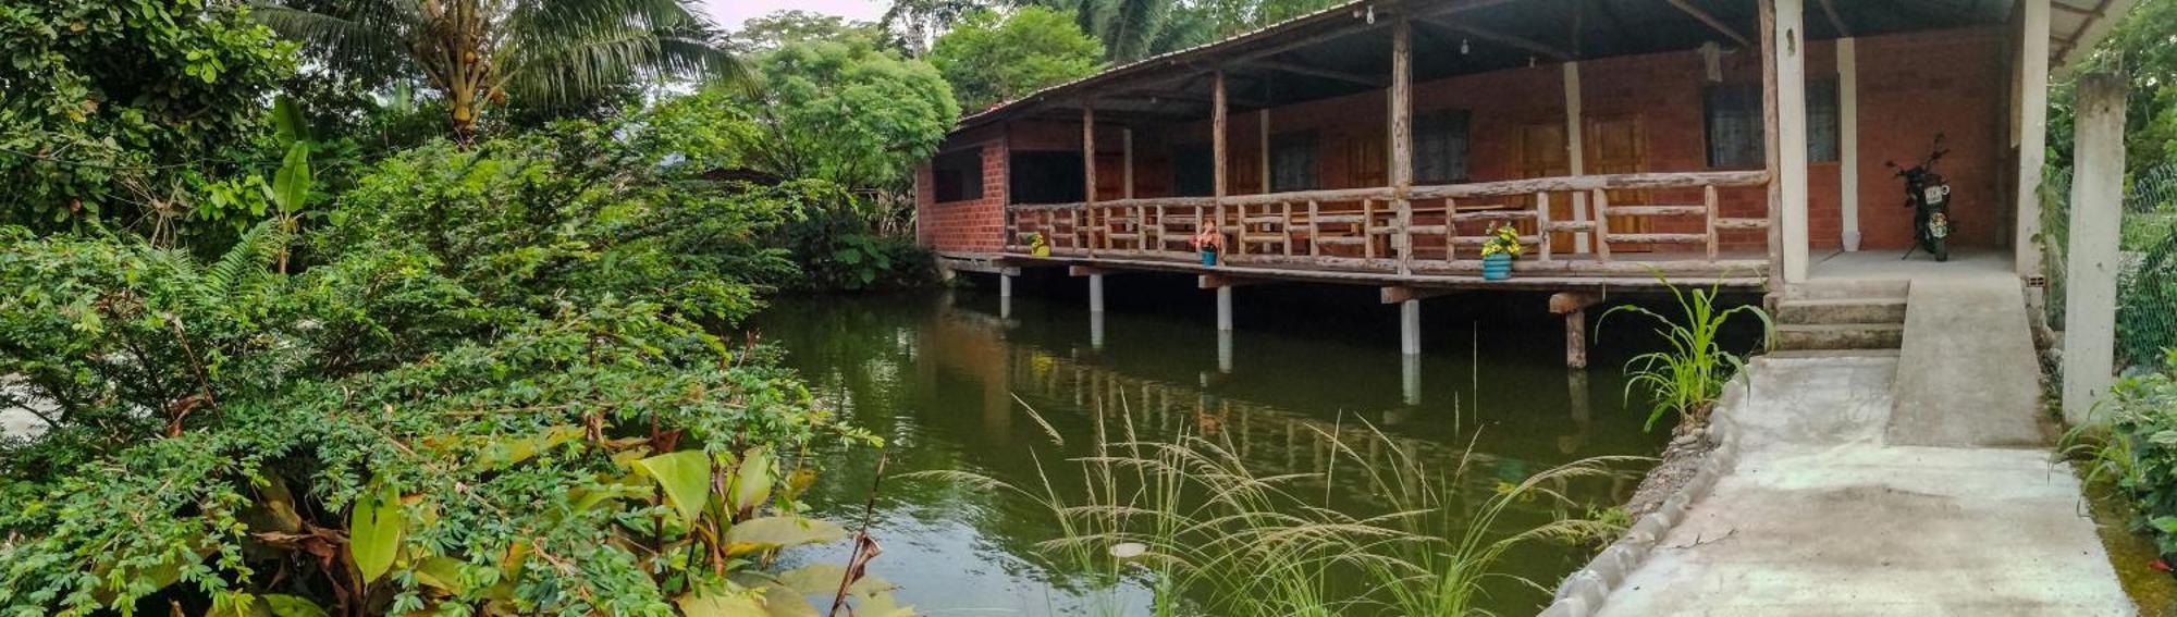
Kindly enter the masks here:
M 2133 615 L 2046 450 L 1896 443 L 1898 363 L 1755 361 L 1737 467 L 1598 615 Z

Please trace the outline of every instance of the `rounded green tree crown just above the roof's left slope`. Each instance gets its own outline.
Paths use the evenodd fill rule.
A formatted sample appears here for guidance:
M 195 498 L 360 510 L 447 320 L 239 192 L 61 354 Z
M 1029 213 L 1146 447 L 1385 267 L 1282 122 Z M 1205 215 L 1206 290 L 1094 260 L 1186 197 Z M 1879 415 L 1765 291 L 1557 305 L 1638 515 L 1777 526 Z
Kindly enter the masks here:
M 951 83 L 960 106 L 980 111 L 1043 87 L 1084 78 L 1104 67 L 1104 46 L 1084 35 L 1071 17 L 1023 7 L 1008 17 L 993 11 L 969 15 L 938 37 L 930 63 Z

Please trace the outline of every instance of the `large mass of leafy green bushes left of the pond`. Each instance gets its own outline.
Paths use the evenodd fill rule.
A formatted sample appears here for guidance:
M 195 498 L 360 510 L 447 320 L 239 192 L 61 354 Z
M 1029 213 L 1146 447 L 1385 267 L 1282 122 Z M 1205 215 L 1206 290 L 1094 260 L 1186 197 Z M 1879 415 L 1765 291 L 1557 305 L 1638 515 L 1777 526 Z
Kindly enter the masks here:
M 0 228 L 0 406 L 46 421 L 0 443 L 0 613 L 899 613 L 758 571 L 842 537 L 795 454 L 873 441 L 703 326 L 779 209 L 564 137 L 405 152 L 211 263 Z

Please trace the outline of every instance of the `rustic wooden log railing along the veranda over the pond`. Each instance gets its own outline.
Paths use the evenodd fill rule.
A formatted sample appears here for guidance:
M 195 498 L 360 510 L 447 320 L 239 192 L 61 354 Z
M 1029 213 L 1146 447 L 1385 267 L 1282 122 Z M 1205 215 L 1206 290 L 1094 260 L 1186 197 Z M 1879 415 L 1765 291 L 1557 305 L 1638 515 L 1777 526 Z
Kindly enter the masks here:
M 1472 272 L 1489 226 L 1511 224 L 1535 250 L 1530 269 L 1631 272 L 1613 245 L 1678 248 L 1718 263 L 1722 232 L 1763 230 L 1768 217 L 1726 217 L 1718 189 L 1766 187 L 1766 172 L 1559 176 L 1472 185 L 1287 191 L 1226 198 L 1139 198 L 1006 209 L 1008 252 L 1030 252 L 1043 235 L 1058 256 L 1195 259 L 1189 241 L 1217 224 L 1226 263 L 1380 272 Z M 1613 193 L 1696 193 L 1681 202 L 1613 202 Z M 1552 217 L 1550 204 L 1583 196 L 1587 219 Z M 1694 202 L 1698 200 L 1698 202 Z M 1689 222 L 1692 219 L 1692 222 Z M 1652 232 L 1655 222 L 1678 222 Z M 1692 230 L 1687 230 L 1692 228 Z M 1585 237 L 1576 254 L 1570 239 Z M 1763 256 L 1766 261 L 1766 256 Z

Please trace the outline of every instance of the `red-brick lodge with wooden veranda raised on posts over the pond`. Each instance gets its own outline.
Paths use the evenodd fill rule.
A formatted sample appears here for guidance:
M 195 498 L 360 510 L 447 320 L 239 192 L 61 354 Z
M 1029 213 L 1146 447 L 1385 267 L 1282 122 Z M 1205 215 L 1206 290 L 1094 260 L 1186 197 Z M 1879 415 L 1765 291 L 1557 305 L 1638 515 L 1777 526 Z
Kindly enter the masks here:
M 2049 72 L 2112 2 L 1361 0 L 960 119 L 917 169 L 917 235 L 956 269 L 1221 291 L 1759 291 L 1903 254 L 1885 161 L 1942 135 L 1953 245 L 2038 285 Z M 1528 245 L 1511 280 L 1480 276 L 1496 224 Z

